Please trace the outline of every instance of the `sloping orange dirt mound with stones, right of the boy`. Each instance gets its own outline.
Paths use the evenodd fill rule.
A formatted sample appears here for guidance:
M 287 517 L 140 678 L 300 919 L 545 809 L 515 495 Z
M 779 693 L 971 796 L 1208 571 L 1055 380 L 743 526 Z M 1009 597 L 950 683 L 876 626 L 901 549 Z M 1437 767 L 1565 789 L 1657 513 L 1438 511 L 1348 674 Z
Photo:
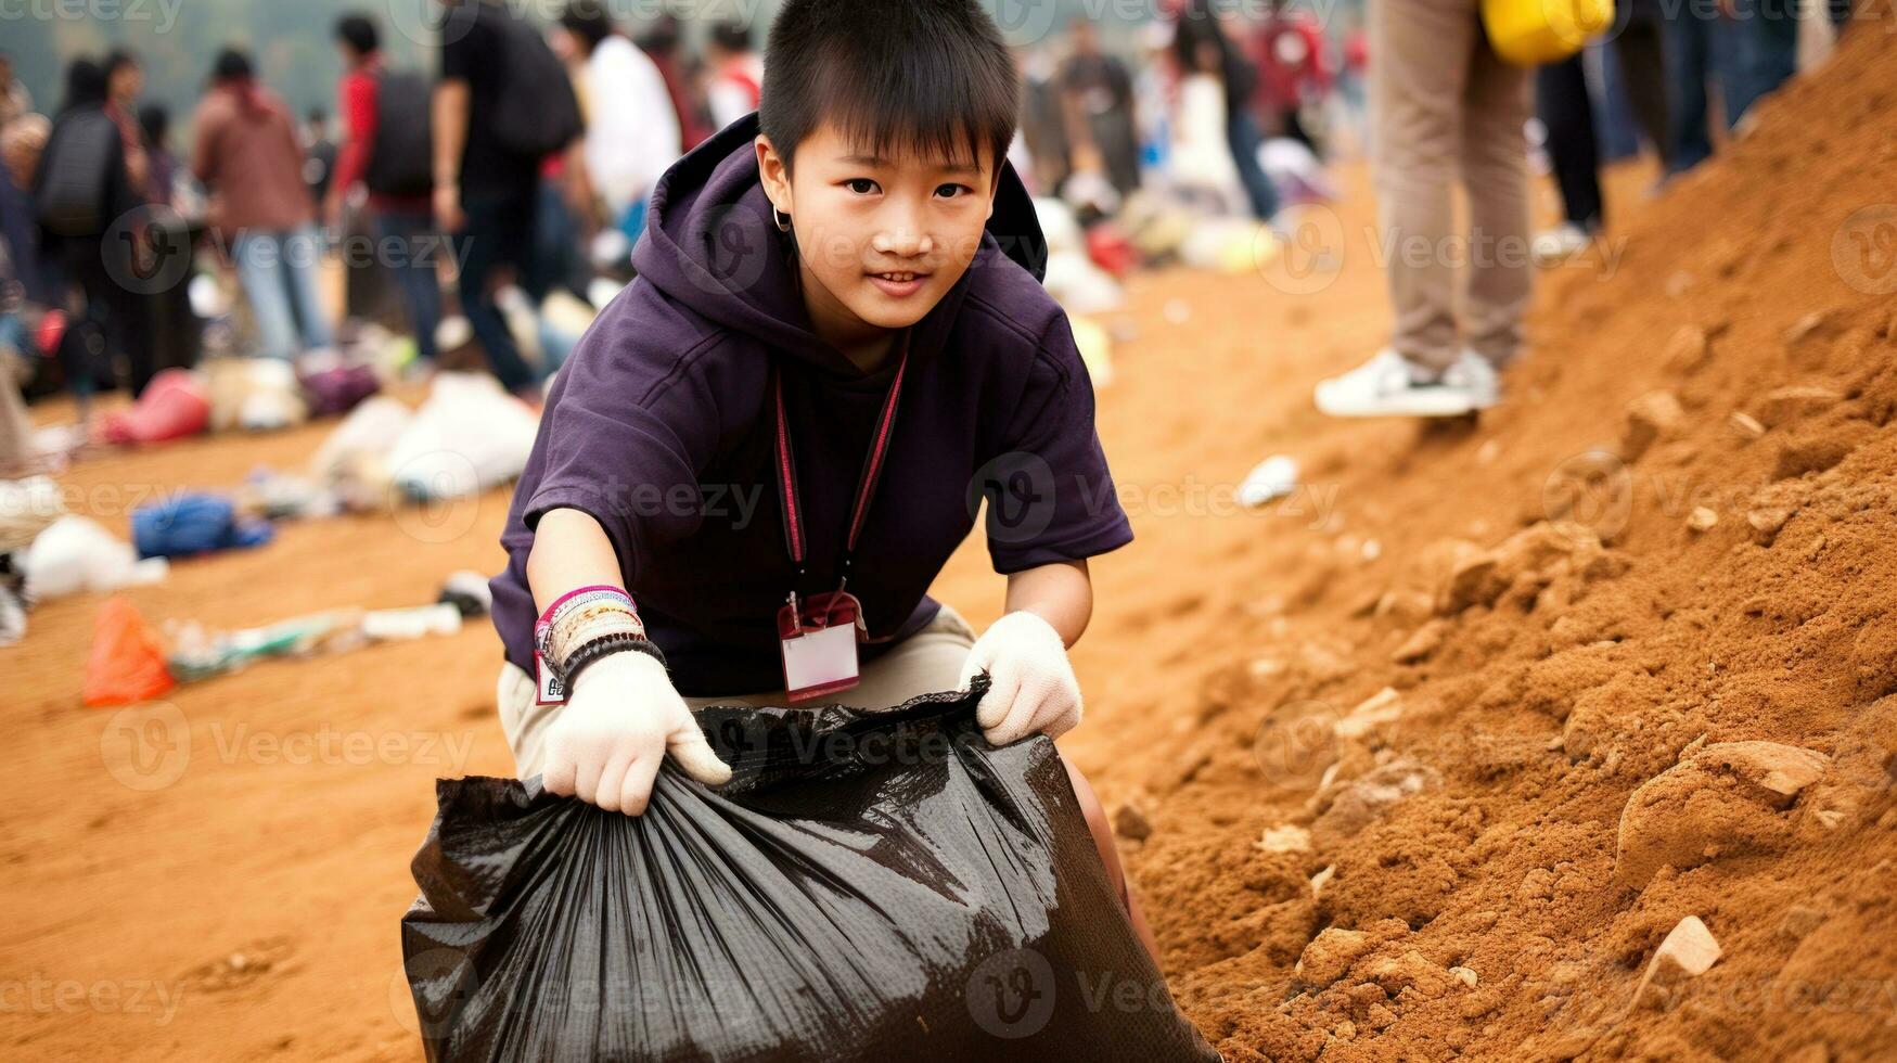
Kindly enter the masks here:
M 1550 275 L 1480 427 L 1313 444 L 1337 520 L 1248 550 L 1252 655 L 1115 790 L 1227 1059 L 1897 1055 L 1878 13 Z M 1686 917 L 1722 957 L 1635 998 Z

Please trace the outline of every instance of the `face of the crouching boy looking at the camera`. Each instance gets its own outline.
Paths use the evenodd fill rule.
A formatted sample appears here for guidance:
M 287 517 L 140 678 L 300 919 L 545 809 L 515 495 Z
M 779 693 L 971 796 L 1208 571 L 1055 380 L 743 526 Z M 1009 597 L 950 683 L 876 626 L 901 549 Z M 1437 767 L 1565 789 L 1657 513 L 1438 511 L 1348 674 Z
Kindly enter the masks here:
M 996 161 L 871 152 L 825 123 L 797 146 L 795 177 L 757 139 L 764 192 L 791 216 L 804 302 L 833 344 L 907 328 L 962 279 L 994 213 Z

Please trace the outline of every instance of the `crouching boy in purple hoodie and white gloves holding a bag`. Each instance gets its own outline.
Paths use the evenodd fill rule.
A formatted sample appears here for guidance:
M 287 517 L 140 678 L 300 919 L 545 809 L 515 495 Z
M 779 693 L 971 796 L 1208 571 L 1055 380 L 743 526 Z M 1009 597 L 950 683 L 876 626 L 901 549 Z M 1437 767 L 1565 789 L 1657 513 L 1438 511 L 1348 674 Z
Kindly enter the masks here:
M 1009 258 L 1040 232 L 1004 163 L 1017 76 L 994 23 L 973 0 L 791 0 L 768 53 L 759 116 L 660 180 L 493 581 L 522 778 L 628 814 L 668 754 L 728 778 L 692 721 L 708 704 L 884 710 L 986 672 L 990 742 L 1064 733 L 1087 558 L 1133 539 L 1066 317 Z M 1007 573 L 979 640 L 926 596 L 977 484 Z

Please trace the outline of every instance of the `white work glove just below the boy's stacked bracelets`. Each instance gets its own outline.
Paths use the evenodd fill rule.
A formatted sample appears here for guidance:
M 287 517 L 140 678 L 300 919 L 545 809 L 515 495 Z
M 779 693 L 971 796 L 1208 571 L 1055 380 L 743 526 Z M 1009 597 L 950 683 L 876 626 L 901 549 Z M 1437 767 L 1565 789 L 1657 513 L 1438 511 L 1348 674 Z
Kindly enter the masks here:
M 541 786 L 637 816 L 668 752 L 706 786 L 730 778 L 730 767 L 711 752 L 666 666 L 626 649 L 594 661 L 573 681 L 567 706 L 546 731 Z

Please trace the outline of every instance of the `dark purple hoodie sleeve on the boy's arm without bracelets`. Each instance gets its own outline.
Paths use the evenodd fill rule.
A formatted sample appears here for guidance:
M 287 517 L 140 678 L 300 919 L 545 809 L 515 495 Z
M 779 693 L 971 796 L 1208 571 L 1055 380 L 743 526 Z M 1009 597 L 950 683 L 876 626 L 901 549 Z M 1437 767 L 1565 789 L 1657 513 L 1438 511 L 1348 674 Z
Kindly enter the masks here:
M 1077 562 L 1133 541 L 1093 425 L 1093 380 L 1064 313 L 1041 334 L 1002 456 L 979 475 L 994 571 Z

